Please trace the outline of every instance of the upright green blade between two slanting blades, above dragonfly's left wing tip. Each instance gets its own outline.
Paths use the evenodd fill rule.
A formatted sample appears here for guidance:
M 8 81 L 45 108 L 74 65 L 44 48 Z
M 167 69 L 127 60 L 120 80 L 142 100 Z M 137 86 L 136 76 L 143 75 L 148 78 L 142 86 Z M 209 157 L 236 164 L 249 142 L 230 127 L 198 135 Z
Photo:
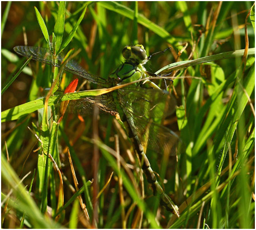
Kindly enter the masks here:
M 62 37 L 63 37 L 63 32 L 64 32 L 64 24 L 65 24 L 65 4 L 66 2 L 60 1 L 59 5 L 59 11 L 58 11 L 58 16 L 57 20 L 54 26 L 54 34 L 56 36 L 55 40 L 55 51 L 58 52 L 61 42 L 62 42 Z

